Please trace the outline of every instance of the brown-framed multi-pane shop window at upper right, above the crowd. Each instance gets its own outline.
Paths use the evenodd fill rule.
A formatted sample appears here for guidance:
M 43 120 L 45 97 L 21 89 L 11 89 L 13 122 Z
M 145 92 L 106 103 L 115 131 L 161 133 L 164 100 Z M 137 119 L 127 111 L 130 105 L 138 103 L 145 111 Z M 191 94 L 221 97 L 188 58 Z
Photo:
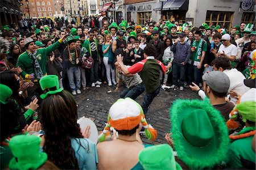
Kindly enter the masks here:
M 233 14 L 234 12 L 207 11 L 205 23 L 213 23 L 213 25 L 220 25 L 220 27 L 230 30 Z

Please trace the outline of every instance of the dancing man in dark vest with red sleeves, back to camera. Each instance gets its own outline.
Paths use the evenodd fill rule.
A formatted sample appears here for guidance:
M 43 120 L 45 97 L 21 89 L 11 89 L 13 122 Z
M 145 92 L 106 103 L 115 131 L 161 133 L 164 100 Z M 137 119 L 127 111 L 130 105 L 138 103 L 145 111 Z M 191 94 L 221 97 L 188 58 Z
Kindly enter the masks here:
M 123 65 L 123 56 L 119 54 L 117 56 L 117 62 L 119 63 L 124 75 L 135 74 L 141 72 L 142 80 L 146 88 L 146 95 L 142 102 L 142 109 L 144 114 L 147 113 L 149 105 L 152 103 L 156 95 L 160 91 L 159 74 L 161 70 L 163 73 L 169 70 L 170 64 L 164 66 L 162 62 L 155 59 L 156 48 L 154 45 L 147 45 L 144 48 L 144 58 L 142 61 L 135 63 L 128 69 Z

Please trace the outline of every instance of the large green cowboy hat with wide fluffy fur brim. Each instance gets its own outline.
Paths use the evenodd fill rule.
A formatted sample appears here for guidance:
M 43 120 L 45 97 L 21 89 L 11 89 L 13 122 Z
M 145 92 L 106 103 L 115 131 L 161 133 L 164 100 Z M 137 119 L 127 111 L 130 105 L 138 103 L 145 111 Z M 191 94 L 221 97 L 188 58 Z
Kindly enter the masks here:
M 209 100 L 176 100 L 170 109 L 179 158 L 191 169 L 211 169 L 228 156 L 228 128 Z

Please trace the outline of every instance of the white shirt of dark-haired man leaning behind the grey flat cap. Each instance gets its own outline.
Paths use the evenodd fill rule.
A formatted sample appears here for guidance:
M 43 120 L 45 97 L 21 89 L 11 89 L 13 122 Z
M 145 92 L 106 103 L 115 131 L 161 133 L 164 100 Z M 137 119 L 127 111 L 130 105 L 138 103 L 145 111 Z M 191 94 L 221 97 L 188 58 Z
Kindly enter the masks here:
M 237 69 L 224 70 L 223 73 L 228 75 L 230 80 L 228 92 L 234 91 L 237 92 L 237 94 L 243 95 L 245 92 L 250 90 L 250 88 L 245 86 L 243 83 L 243 80 L 246 79 L 245 76 Z M 237 99 L 232 96 L 230 96 L 230 101 L 233 104 L 237 104 Z

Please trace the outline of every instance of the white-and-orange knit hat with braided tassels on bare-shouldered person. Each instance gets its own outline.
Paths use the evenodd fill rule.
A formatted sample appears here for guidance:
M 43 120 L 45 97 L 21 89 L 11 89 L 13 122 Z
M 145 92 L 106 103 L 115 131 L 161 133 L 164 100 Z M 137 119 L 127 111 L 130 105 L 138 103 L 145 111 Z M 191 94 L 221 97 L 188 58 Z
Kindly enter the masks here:
M 131 130 L 138 126 L 140 122 L 145 128 L 146 137 L 154 141 L 157 132 L 151 125 L 147 124 L 141 105 L 129 97 L 118 99 L 109 109 L 108 122 L 98 141 L 105 141 L 105 134 L 108 133 L 111 126 L 117 130 Z

